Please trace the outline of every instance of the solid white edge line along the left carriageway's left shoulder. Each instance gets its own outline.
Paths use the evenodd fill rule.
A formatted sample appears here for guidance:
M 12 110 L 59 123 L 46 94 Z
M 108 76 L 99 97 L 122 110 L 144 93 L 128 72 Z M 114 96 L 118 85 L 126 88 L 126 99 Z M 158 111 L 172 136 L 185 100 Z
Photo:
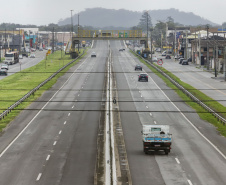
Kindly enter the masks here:
M 86 58 L 83 63 L 87 60 L 88 58 Z M 82 65 L 82 63 L 80 64 Z M 80 67 L 80 65 L 78 66 L 78 68 Z M 77 69 L 74 70 L 74 72 Z M 38 111 L 38 113 L 31 119 L 31 121 L 24 127 L 23 130 L 21 130 L 21 132 L 14 138 L 14 140 L 11 141 L 11 143 L 9 143 L 9 145 L 1 152 L 0 157 L 3 156 L 3 154 L 10 148 L 10 146 L 12 146 L 12 144 L 22 135 L 22 133 L 28 128 L 28 126 L 35 120 L 35 118 L 42 112 L 42 110 L 49 104 L 49 102 L 56 96 L 56 94 L 67 84 L 67 82 L 72 78 L 72 76 L 75 73 L 72 73 L 71 76 L 69 76 L 69 78 L 66 80 L 66 82 L 64 82 L 64 84 L 61 86 L 61 88 L 55 92 L 55 94 L 49 99 L 48 102 L 46 102 L 46 104 L 41 108 L 40 111 Z

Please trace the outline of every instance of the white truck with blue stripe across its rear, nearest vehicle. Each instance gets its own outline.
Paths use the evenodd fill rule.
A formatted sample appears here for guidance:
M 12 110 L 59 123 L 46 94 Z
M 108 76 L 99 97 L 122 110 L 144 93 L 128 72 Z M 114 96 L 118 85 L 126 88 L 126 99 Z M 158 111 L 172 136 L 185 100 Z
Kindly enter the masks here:
M 149 151 L 162 150 L 168 155 L 172 143 L 169 125 L 143 125 L 141 133 L 145 154 L 148 154 Z

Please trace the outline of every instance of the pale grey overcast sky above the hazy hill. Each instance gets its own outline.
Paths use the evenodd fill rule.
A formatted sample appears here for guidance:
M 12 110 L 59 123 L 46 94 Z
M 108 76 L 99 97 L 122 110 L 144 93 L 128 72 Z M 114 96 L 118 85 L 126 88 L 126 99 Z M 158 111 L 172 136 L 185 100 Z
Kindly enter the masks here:
M 132 11 L 175 8 L 218 24 L 226 22 L 226 0 L 0 0 L 0 23 L 48 25 L 70 17 L 71 9 L 77 13 L 95 7 Z

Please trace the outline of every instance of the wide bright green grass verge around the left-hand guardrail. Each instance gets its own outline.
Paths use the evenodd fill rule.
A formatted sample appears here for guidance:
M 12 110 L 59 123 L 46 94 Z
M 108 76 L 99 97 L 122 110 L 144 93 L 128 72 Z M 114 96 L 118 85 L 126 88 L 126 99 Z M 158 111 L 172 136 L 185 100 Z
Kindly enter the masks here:
M 82 52 L 83 51 L 81 51 L 81 53 Z M 84 55 L 85 54 L 86 51 Z M 56 83 L 57 79 L 60 76 L 64 75 L 69 70 L 69 68 L 75 65 L 80 59 L 66 67 L 52 80 L 42 86 L 38 91 L 36 91 L 34 95 L 30 96 L 28 99 L 25 100 L 25 102 L 21 103 L 17 108 L 12 110 L 11 113 L 9 113 L 4 119 L 0 121 L 0 131 L 2 131 L 23 109 L 29 106 L 32 101 L 35 101 L 43 94 L 43 92 L 50 89 Z M 61 52 L 57 51 L 54 54 L 50 54 L 47 57 L 47 60 L 44 59 L 33 67 L 24 69 L 21 72 L 17 72 L 2 79 L 0 81 L 1 112 L 6 110 L 20 98 L 22 98 L 30 90 L 38 86 L 54 72 L 63 67 L 63 65 L 66 65 L 71 61 L 72 59 L 68 55 L 63 55 L 61 59 Z

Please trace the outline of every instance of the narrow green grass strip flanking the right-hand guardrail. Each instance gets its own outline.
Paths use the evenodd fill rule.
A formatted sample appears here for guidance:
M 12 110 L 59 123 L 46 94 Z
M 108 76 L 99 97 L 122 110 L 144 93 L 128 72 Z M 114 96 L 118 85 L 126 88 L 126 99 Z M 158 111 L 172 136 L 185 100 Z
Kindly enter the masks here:
M 131 53 L 134 56 L 136 56 L 133 52 L 131 52 Z M 140 62 L 145 64 L 149 69 L 151 69 L 151 71 L 153 73 L 158 75 L 166 83 L 166 85 L 168 87 L 170 87 L 171 89 L 174 89 L 175 92 L 181 97 L 182 100 L 185 101 L 186 104 L 188 104 L 190 107 L 192 107 L 194 110 L 197 111 L 197 114 L 199 115 L 199 117 L 202 120 L 205 120 L 205 121 L 213 124 L 217 128 L 219 133 L 222 136 L 226 137 L 226 126 L 225 125 L 223 125 L 220 121 L 218 121 L 218 119 L 215 118 L 212 114 L 208 113 L 199 104 L 197 104 L 196 102 L 192 102 L 191 99 L 188 96 L 186 96 L 180 89 L 178 89 L 174 84 L 172 84 L 166 77 L 161 75 L 155 68 L 151 67 L 150 65 L 147 65 L 147 63 L 144 60 L 142 60 L 140 57 L 138 57 L 138 59 L 140 60 Z M 154 64 L 154 65 L 156 65 L 156 64 Z M 159 68 L 158 65 L 156 65 L 156 66 Z M 187 84 L 185 82 L 182 82 L 178 77 L 176 77 L 174 74 L 172 74 L 171 72 L 167 71 L 163 67 L 161 67 L 161 70 L 164 71 L 165 73 L 167 73 L 171 78 L 173 78 L 177 83 L 179 83 L 185 89 L 187 89 L 189 92 L 191 92 L 193 95 L 195 95 L 198 99 L 200 99 L 200 100 L 210 100 L 209 102 L 205 102 L 205 104 L 208 105 L 209 107 L 211 107 L 216 112 L 226 112 L 226 107 L 224 107 L 223 105 L 221 105 L 217 101 L 213 101 L 213 99 L 211 99 L 210 97 L 208 97 L 207 95 L 205 95 L 201 91 L 195 89 L 194 87 L 192 87 L 191 85 L 189 85 L 189 84 Z M 220 114 L 223 117 L 226 117 L 226 113 L 220 113 Z

